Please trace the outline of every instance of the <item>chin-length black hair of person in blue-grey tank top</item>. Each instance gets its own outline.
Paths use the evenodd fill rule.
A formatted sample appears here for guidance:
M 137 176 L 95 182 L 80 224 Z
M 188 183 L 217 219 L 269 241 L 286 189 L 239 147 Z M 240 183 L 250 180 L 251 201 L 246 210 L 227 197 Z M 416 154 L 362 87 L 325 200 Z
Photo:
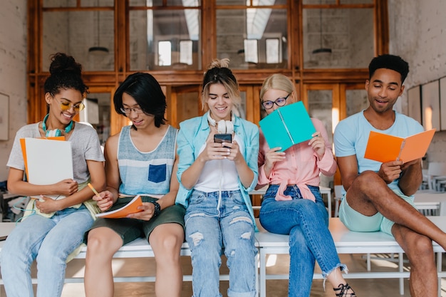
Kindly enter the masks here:
M 160 83 L 149 73 L 130 74 L 120 84 L 113 96 L 116 113 L 120 115 L 125 115 L 121 110 L 123 108 L 123 93 L 132 96 L 145 114 L 155 117 L 155 127 L 160 127 L 167 122 L 164 118 L 167 108 L 166 96 L 162 93 Z M 132 127 L 136 130 L 135 125 Z

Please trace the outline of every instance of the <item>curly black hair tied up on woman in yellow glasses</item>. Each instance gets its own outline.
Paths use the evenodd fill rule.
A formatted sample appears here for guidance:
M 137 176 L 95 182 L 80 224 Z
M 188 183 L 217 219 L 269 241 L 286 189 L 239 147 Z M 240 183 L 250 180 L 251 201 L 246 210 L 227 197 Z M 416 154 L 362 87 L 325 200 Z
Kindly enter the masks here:
M 66 53 L 51 56 L 50 76 L 43 85 L 45 93 L 58 94 L 61 89 L 74 89 L 81 94 L 88 93 L 88 86 L 83 83 L 82 66 Z

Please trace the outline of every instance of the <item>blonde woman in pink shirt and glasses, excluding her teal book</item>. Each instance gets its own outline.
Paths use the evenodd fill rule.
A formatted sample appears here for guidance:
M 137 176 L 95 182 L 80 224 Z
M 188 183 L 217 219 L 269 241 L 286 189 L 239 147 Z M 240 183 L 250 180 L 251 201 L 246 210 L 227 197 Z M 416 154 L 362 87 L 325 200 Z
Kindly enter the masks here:
M 297 99 L 294 84 L 284 75 L 266 78 L 261 105 L 269 115 Z M 319 174 L 336 172 L 328 135 L 320 120 L 311 118 L 312 139 L 289 147 L 269 147 L 260 131 L 259 184 L 269 184 L 260 209 L 260 223 L 271 233 L 289 234 L 289 297 L 310 296 L 315 260 L 338 297 L 356 296 L 341 274 L 341 264 L 328 231 L 328 213 L 319 191 Z

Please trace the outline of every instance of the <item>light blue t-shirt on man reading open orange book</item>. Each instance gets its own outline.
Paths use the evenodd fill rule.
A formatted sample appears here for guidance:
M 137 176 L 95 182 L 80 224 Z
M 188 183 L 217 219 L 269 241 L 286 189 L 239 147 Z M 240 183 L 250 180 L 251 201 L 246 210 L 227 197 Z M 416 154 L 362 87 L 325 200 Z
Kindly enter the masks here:
M 334 132 L 334 146 L 336 157 L 347 157 L 356 155 L 358 161 L 358 174 L 365 170 L 378 172 L 381 162 L 364 158 L 370 131 L 385 133 L 398 137 L 408 137 L 424 131 L 422 125 L 413 118 L 397 113 L 395 111 L 395 123 L 387 130 L 378 130 L 364 117 L 364 110 L 341 120 Z M 385 145 L 383 146 L 385 150 Z M 389 184 L 390 189 L 398 188 L 399 179 Z

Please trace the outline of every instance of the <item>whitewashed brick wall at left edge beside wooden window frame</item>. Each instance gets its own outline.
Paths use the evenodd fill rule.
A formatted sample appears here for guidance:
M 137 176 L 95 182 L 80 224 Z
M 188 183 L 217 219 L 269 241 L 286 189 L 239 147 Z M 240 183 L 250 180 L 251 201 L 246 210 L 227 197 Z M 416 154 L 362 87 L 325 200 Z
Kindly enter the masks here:
M 26 124 L 26 0 L 2 0 L 0 9 L 0 93 L 9 96 L 8 140 L 0 140 L 0 181 L 14 136 Z

